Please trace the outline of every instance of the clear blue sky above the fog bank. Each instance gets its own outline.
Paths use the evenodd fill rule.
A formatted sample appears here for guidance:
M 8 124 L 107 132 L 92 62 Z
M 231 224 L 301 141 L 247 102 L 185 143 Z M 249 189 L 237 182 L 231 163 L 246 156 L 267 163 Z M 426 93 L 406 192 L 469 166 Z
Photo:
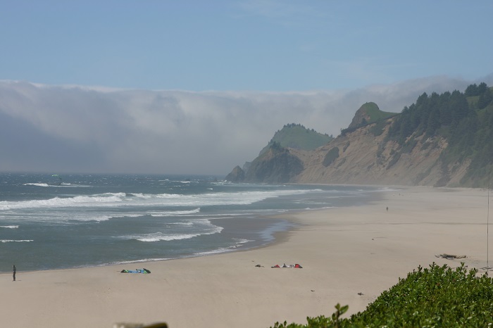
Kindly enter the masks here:
M 492 1 L 0 4 L 0 80 L 285 92 L 493 72 Z

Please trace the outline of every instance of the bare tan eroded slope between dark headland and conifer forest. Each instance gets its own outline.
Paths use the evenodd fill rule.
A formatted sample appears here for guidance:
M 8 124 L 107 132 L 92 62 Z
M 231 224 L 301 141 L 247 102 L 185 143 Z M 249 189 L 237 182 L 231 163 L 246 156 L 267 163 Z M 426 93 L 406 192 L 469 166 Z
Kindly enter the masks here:
M 289 149 L 304 163 L 304 170 L 292 182 L 457 186 L 469 163 L 453 168 L 442 165 L 439 156 L 447 142 L 439 137 L 423 140 L 423 136 L 414 136 L 416 144 L 407 149 L 395 141 L 386 141 L 392 120 L 387 120 L 378 136 L 371 131 L 373 125 L 368 125 L 339 136 L 316 151 Z M 332 155 L 327 158 L 329 152 Z

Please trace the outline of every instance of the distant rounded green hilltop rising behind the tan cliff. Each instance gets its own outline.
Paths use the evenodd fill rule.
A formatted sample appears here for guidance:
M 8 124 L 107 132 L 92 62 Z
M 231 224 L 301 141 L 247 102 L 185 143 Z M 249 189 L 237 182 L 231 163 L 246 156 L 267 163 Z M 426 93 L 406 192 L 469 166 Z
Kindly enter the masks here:
M 260 153 L 265 153 L 270 144 L 275 142 L 284 148 L 311 151 L 327 144 L 332 139 L 334 139 L 332 136 L 318 133 L 313 129 L 308 130 L 301 124 L 292 123 L 285 125 L 281 130 L 277 130 L 274 137 L 270 139 L 268 145 Z

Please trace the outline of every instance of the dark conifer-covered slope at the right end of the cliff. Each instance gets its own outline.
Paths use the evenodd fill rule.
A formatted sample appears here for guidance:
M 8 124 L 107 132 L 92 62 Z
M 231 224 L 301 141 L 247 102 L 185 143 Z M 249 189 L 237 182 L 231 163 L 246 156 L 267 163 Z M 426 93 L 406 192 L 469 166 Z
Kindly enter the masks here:
M 388 138 L 402 146 L 400 153 L 409 153 L 423 135 L 425 140 L 447 140 L 447 149 L 440 156 L 444 179 L 437 187 L 447 184 L 456 163 L 465 160 L 470 165 L 461 186 L 486 187 L 493 169 L 493 89 L 483 82 L 471 84 L 466 92 L 424 93 L 416 103 L 404 107 Z

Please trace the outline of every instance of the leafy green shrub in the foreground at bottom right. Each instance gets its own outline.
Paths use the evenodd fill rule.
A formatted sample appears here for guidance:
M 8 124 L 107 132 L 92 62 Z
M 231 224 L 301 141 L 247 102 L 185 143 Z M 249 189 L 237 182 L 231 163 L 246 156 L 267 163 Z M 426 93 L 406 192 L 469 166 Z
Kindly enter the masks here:
M 477 274 L 463 263 L 455 270 L 433 263 L 399 279 L 362 313 L 342 319 L 348 306 L 337 304 L 331 317 L 308 317 L 308 324 L 276 322 L 274 328 L 493 327 L 493 279 Z

